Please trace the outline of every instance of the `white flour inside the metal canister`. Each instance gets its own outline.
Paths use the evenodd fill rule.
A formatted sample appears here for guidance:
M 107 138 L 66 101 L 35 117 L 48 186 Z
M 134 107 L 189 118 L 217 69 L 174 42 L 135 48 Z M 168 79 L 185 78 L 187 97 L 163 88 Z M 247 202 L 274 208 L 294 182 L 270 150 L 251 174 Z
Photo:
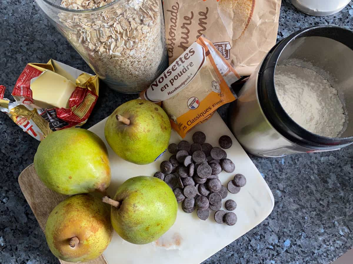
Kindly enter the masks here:
M 330 138 L 342 132 L 345 113 L 337 90 L 315 71 L 278 65 L 275 89 L 282 107 L 301 127 Z

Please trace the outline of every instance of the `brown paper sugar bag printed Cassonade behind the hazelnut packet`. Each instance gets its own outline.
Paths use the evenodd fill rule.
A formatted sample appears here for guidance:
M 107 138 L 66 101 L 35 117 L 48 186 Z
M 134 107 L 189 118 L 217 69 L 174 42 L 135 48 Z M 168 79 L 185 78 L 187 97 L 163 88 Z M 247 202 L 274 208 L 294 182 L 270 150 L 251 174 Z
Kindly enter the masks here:
M 240 75 L 275 45 L 281 0 L 165 0 L 169 63 L 205 34 Z

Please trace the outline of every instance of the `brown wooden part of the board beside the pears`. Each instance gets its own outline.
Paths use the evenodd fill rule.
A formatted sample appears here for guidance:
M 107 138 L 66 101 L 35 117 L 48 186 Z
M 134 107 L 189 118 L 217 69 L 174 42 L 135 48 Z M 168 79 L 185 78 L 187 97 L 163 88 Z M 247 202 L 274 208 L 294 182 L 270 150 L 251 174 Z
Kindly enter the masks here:
M 48 189 L 39 180 L 33 164 L 29 165 L 21 172 L 18 177 L 18 183 L 24 197 L 33 211 L 34 216 L 44 231 L 50 212 L 52 212 L 58 203 L 65 200 L 68 196 L 58 194 L 55 191 Z M 61 264 L 71 264 L 71 262 L 62 261 L 60 259 L 59 261 Z M 108 264 L 103 255 L 86 263 Z

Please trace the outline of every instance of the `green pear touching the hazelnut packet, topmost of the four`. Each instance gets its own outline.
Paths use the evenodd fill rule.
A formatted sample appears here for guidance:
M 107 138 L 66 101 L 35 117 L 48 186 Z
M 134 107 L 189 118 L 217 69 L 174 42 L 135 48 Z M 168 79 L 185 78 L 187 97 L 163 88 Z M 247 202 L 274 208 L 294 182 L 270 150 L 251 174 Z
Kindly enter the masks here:
M 114 152 L 128 162 L 154 162 L 166 150 L 170 121 L 163 109 L 145 100 L 128 101 L 110 115 L 104 134 Z

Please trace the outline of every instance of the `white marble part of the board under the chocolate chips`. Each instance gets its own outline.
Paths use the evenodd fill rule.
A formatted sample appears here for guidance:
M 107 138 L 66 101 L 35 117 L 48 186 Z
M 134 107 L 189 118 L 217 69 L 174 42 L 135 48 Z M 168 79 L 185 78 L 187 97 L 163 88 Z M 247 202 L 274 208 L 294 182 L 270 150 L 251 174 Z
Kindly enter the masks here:
M 112 169 L 112 182 L 108 193 L 114 196 L 118 186 L 128 178 L 139 175 L 153 176 L 160 170 L 160 163 L 169 159 L 171 154 L 166 151 L 160 159 L 149 165 L 135 165 L 122 160 L 113 152 L 104 138 L 106 120 L 102 120 L 89 130 L 103 139 L 108 147 Z M 206 142 L 213 146 L 219 146 L 218 139 L 223 135 L 228 135 L 233 140 L 232 147 L 226 151 L 227 158 L 235 164 L 235 171 L 231 174 L 223 171 L 219 179 L 227 186 L 228 181 L 232 180 L 237 173 L 246 177 L 246 186 L 241 188 L 238 194 L 228 193 L 227 198 L 222 201 L 223 210 L 225 210 L 226 200 L 233 199 L 237 202 L 237 208 L 233 211 L 238 216 L 237 224 L 234 226 L 217 224 L 214 220 L 214 211 L 211 211 L 206 221 L 202 221 L 197 217 L 196 211 L 191 214 L 184 213 L 180 203 L 175 224 L 157 242 L 134 245 L 121 239 L 114 232 L 112 242 L 103 253 L 109 264 L 201 263 L 260 224 L 271 213 L 274 198 L 270 188 L 220 115 L 216 112 L 210 120 L 196 126 L 185 140 L 192 143 L 192 134 L 196 131 L 204 132 L 207 137 Z M 172 131 L 170 143 L 179 143 L 180 140 L 179 135 Z

